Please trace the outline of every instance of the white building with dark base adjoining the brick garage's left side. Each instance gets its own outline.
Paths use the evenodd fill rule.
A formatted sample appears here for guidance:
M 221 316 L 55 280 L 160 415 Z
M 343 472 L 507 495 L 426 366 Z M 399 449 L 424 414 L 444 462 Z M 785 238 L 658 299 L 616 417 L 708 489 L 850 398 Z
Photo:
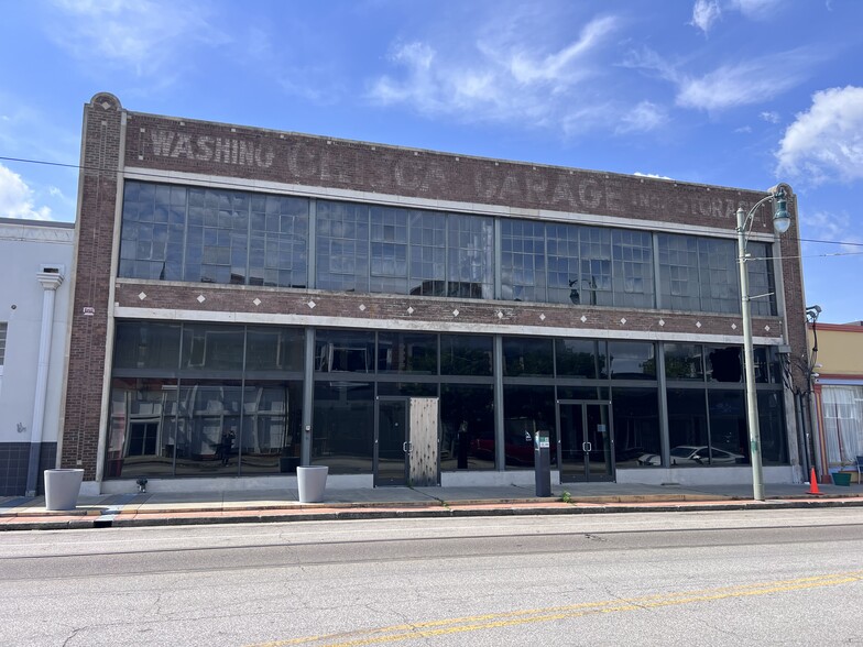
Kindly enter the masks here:
M 74 223 L 0 218 L 0 495 L 55 467 Z

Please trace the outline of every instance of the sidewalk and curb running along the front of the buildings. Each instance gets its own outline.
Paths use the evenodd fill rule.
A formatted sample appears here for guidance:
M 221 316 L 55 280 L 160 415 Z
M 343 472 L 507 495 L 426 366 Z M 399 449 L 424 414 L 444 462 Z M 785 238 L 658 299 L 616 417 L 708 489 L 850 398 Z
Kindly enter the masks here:
M 45 509 L 45 498 L 0 497 L 0 530 L 178 526 L 260 522 L 418 518 L 540 514 L 598 514 L 776 507 L 863 506 L 863 486 L 679 486 L 626 483 L 555 485 L 551 497 L 533 486 L 328 489 L 323 503 L 299 503 L 296 490 L 143 493 L 80 496 L 74 511 Z M 566 496 L 565 493 L 569 493 Z

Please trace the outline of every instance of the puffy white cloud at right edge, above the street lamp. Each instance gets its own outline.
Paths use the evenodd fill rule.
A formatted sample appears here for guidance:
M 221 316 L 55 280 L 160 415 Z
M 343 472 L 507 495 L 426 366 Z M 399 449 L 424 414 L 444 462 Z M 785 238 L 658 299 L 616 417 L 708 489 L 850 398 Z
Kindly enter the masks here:
M 863 179 L 863 88 L 821 90 L 779 142 L 777 174 L 813 184 Z

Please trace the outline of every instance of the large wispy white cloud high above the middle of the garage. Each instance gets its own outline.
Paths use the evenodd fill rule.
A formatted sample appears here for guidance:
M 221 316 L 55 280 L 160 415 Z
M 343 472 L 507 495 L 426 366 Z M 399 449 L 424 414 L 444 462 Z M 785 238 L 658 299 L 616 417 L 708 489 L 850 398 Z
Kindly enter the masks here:
M 527 39 L 523 29 L 498 28 L 473 43 L 462 39 L 455 47 L 419 41 L 396 44 L 390 62 L 400 74 L 373 79 L 367 98 L 383 106 L 406 105 L 427 116 L 518 121 L 564 132 L 579 130 L 577 116 L 598 114 L 597 105 L 603 102 L 599 92 L 578 90 L 587 78 L 601 74 L 596 59 L 610 44 L 616 19 L 588 22 L 573 41 L 551 52 Z M 601 121 L 608 130 L 632 110 L 622 103 L 612 108 L 609 114 L 609 107 L 603 107 Z M 643 109 L 642 123 L 655 127 L 658 116 L 658 109 L 652 116 Z M 629 122 L 631 130 L 636 130 L 636 118 Z

